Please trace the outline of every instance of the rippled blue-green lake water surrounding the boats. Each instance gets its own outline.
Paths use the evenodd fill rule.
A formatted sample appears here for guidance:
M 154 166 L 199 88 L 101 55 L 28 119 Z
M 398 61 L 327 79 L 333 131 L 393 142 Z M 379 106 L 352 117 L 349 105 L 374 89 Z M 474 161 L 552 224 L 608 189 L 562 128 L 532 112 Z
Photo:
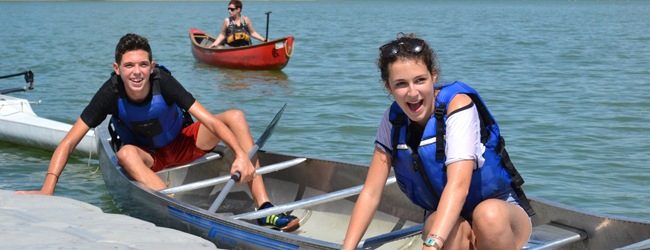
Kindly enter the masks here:
M 217 35 L 227 2 L 0 2 L 0 75 L 33 70 L 12 96 L 73 123 L 109 77 L 126 33 L 211 112 L 243 110 L 254 137 L 288 103 L 264 149 L 369 164 L 391 99 L 374 64 L 398 32 L 437 52 L 442 82 L 475 87 L 530 196 L 650 219 L 650 3 L 637 1 L 244 2 L 269 36 L 292 35 L 281 72 L 197 63 L 188 32 Z M 23 86 L 22 78 L 0 88 Z M 0 128 L 1 129 L 1 128 Z M 51 152 L 0 143 L 0 189 L 40 189 Z M 55 195 L 119 213 L 98 162 L 71 158 Z

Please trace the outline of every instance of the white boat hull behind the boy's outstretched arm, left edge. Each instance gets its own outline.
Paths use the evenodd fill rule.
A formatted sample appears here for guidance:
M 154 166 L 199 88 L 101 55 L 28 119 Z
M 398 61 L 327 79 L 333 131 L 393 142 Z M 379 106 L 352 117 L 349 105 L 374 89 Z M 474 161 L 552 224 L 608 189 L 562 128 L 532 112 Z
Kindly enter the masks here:
M 28 100 L 0 95 L 0 141 L 54 151 L 72 125 L 39 117 Z M 95 132 L 88 131 L 73 154 L 96 157 Z

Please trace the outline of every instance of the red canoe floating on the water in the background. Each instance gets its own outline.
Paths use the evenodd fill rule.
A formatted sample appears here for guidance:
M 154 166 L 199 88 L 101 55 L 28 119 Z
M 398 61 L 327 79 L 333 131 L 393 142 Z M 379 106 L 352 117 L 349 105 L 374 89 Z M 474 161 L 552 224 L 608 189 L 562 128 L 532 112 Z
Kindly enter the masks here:
M 222 68 L 279 70 L 293 55 L 293 36 L 243 47 L 209 48 L 215 37 L 190 29 L 192 55 L 197 61 Z

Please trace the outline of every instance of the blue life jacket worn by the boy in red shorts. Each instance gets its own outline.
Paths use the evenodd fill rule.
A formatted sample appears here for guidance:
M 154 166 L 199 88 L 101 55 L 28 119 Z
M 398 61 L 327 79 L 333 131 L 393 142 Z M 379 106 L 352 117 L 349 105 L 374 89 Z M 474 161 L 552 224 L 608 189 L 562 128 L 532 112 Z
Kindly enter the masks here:
M 187 114 L 175 103 L 167 105 L 165 102 L 160 92 L 160 69 L 169 73 L 164 66 L 154 68 L 150 78 L 151 101 L 142 105 L 129 103 L 126 93 L 118 88 L 119 76 L 116 74 L 111 76 L 113 91 L 118 96 L 119 111 L 117 115 L 113 115 L 111 122 L 121 143 L 144 145 L 153 152 L 156 148 L 172 142 L 180 134 L 181 129 L 188 125 Z

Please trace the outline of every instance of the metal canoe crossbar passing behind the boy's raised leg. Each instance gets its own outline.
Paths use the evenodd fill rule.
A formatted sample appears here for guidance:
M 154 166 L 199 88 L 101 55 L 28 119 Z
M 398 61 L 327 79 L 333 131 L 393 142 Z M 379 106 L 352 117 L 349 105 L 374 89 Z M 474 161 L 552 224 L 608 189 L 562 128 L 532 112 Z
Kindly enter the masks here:
M 285 162 L 280 162 L 280 163 L 268 165 L 268 166 L 265 166 L 265 167 L 260 167 L 255 171 L 255 173 L 257 173 L 257 175 L 268 174 L 268 173 L 271 173 L 271 172 L 275 172 L 275 171 L 279 171 L 279 170 L 282 170 L 282 169 L 285 169 L 285 168 L 296 166 L 296 165 L 298 165 L 298 164 L 300 164 L 300 163 L 302 163 L 302 162 L 304 162 L 306 160 L 307 160 L 307 158 L 296 158 L 296 159 L 288 160 L 288 161 L 285 161 Z M 224 175 L 224 176 L 219 176 L 219 177 L 215 177 L 215 178 L 212 178 L 212 179 L 187 183 L 187 184 L 177 186 L 177 187 L 161 189 L 158 192 L 160 192 L 162 194 L 180 193 L 180 192 L 191 191 L 191 190 L 195 190 L 195 189 L 199 189 L 199 188 L 218 185 L 218 184 L 221 184 L 221 183 L 228 182 L 229 180 L 230 180 L 230 175 Z

